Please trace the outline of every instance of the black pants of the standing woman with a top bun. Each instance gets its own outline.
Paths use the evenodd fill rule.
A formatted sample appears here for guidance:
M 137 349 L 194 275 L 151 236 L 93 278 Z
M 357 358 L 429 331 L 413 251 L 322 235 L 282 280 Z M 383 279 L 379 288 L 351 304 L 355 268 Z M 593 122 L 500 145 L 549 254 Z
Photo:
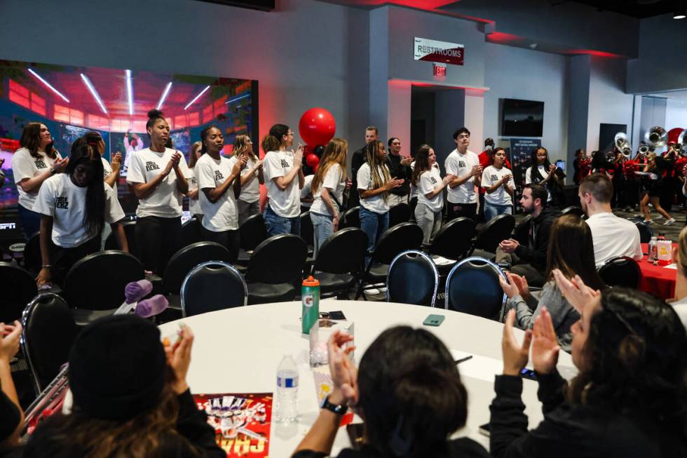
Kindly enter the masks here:
M 170 257 L 180 248 L 181 235 L 179 217 L 146 216 L 136 220 L 137 255 L 144 269 L 163 276 Z

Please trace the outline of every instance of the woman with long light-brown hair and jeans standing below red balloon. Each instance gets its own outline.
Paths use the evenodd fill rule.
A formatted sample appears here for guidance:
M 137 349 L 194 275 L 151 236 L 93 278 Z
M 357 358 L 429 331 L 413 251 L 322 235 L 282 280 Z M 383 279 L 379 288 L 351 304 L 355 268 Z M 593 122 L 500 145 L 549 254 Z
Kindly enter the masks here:
M 318 171 L 313 175 L 311 189 L 314 201 L 310 207 L 310 219 L 314 229 L 315 256 L 322 243 L 339 229 L 339 212 L 346 187 L 346 154 L 348 142 L 343 138 L 332 138 L 322 153 Z

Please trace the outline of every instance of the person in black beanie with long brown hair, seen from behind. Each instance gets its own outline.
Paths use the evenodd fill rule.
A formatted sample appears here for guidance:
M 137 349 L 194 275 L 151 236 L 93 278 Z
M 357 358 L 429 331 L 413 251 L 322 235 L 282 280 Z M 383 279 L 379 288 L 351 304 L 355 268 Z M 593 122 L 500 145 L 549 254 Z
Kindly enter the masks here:
M 139 316 L 94 321 L 69 354 L 72 412 L 39 424 L 24 457 L 226 457 L 186 384 L 192 345 L 185 325 L 165 348 Z

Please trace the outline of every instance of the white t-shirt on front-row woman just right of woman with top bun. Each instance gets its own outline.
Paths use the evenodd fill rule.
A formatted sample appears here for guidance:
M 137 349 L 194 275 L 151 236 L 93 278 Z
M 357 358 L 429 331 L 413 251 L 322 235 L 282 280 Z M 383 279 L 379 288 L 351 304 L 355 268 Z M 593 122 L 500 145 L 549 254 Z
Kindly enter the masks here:
M 222 197 L 212 203 L 203 189 L 216 188 L 224 183 L 231 175 L 233 165 L 238 161 L 235 156 L 219 160 L 203 154 L 196 162 L 196 176 L 198 180 L 198 201 L 203 210 L 203 227 L 208 231 L 222 232 L 238 229 L 238 203 L 233 195 L 233 183 L 229 185 Z M 236 178 L 240 180 L 240 178 Z

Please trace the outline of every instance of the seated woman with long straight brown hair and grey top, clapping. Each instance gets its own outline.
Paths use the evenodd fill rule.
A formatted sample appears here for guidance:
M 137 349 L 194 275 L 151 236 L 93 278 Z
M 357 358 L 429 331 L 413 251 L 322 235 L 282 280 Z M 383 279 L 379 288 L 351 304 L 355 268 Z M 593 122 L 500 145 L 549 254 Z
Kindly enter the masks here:
M 529 291 L 527 279 L 514 273 L 507 273 L 508 283 L 499 277 L 501 288 L 508 296 L 506 307 L 515 309 L 515 325 L 520 329 L 530 329 L 534 318 L 546 306 L 551 314 L 553 327 L 559 345 L 570 351 L 572 342 L 571 327 L 580 319 L 580 314 L 561 294 L 553 278 L 554 269 L 566 276 L 578 274 L 587 285 L 595 289 L 604 288 L 597 269 L 594 267 L 594 244 L 592 231 L 577 215 L 564 215 L 553 223 L 549 248 L 547 250 L 546 278 L 539 299 Z

